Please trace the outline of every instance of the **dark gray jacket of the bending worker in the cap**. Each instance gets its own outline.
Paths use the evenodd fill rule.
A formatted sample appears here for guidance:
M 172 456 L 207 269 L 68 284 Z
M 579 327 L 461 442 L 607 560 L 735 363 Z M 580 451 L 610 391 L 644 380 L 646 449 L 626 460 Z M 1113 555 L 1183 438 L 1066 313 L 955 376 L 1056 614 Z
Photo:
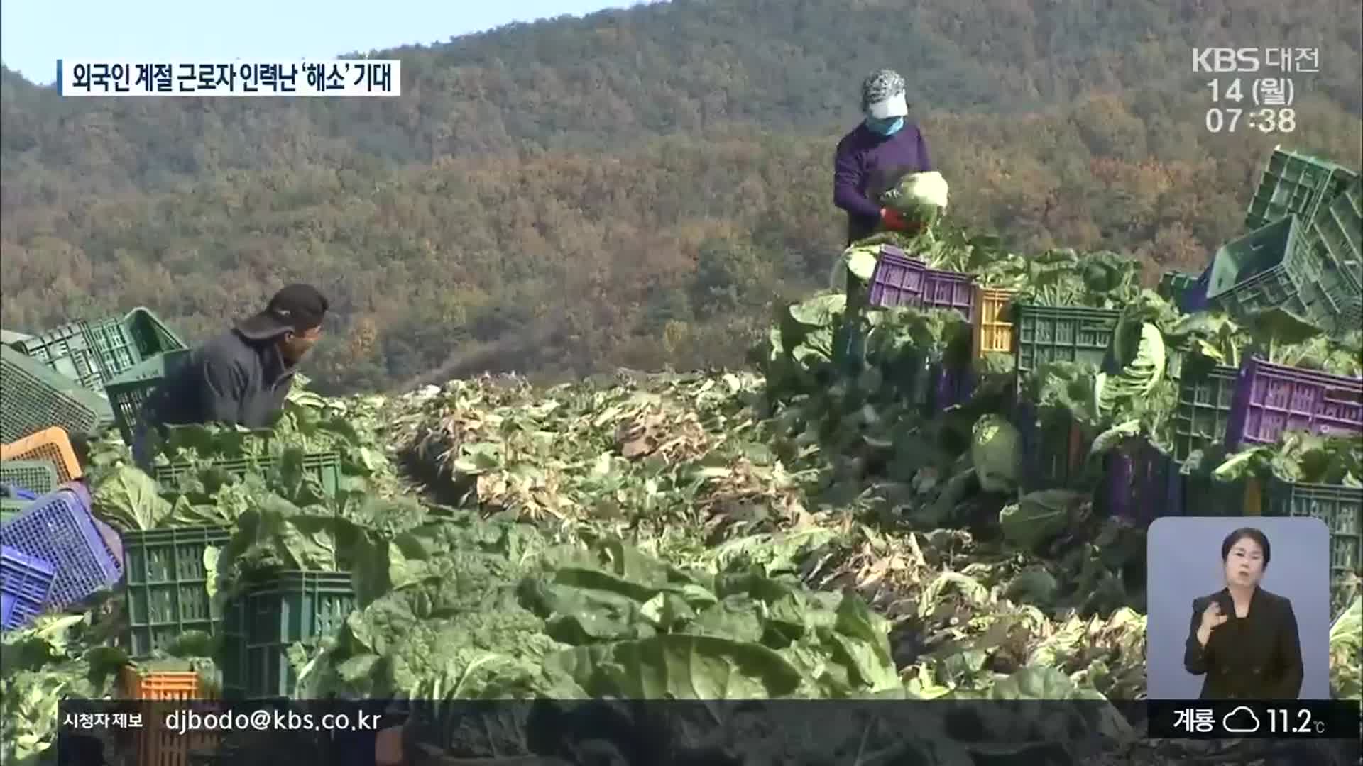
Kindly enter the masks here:
M 273 339 L 251 341 L 230 330 L 189 353 L 147 399 L 149 425 L 222 423 L 264 428 L 284 409 L 293 386 Z

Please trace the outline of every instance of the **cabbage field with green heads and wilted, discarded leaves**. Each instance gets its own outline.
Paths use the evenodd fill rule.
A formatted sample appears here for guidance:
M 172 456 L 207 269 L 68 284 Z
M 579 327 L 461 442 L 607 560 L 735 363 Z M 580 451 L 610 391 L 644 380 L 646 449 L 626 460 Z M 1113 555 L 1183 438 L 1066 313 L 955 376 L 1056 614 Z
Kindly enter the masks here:
M 353 611 L 289 650 L 297 698 L 1139 699 L 1145 529 L 1097 507 L 1104 455 L 1172 440 L 1174 349 L 1359 375 L 1358 337 L 1183 315 L 1116 254 L 1022 258 L 942 225 L 898 241 L 1018 300 L 1122 309 L 1114 365 L 1041 364 L 1015 384 L 1009 354 L 972 353 L 960 313 L 867 308 L 886 241 L 849 249 L 849 289 L 777 307 L 751 369 L 487 376 L 388 398 L 296 387 L 270 431 L 174 429 L 158 459 L 194 469 L 173 482 L 116 438 L 93 444 L 95 514 L 124 532 L 230 527 L 204 556 L 214 609 L 254 572 L 348 572 Z M 969 369 L 969 395 L 934 399 L 942 365 Z M 1069 485 L 1025 487 L 1022 405 L 1093 435 Z M 339 455 L 334 491 L 307 470 L 319 453 Z M 214 468 L 266 457 L 244 478 Z M 1216 481 L 1363 477 L 1358 439 L 1295 433 L 1189 465 Z M 1356 585 L 1336 582 L 1337 696 L 1360 694 Z M 63 695 L 116 694 L 124 612 L 108 594 L 5 634 L 5 763 L 41 762 Z M 136 664 L 215 679 L 219 647 L 187 632 Z M 1127 763 L 1224 746 L 1111 739 Z M 921 762 L 1007 752 L 946 740 Z

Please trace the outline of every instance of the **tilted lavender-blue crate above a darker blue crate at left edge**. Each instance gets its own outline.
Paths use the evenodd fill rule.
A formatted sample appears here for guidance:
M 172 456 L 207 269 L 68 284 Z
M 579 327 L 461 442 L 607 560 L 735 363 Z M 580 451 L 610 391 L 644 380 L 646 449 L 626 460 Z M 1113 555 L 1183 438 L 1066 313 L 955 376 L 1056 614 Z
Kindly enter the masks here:
M 0 525 L 0 542 L 56 567 L 50 609 L 82 601 L 123 577 L 119 534 L 90 515 L 90 491 L 72 481 Z

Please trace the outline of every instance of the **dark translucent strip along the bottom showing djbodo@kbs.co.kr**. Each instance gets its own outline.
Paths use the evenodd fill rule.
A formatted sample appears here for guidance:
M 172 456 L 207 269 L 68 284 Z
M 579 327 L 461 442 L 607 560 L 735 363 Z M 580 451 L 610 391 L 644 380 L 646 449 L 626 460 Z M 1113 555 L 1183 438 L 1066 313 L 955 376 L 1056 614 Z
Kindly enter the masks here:
M 1259 726 L 1225 729 L 1249 706 Z M 1210 710 L 1213 729 L 1180 728 L 1179 710 Z M 1303 725 L 1303 710 L 1311 721 Z M 132 726 L 139 716 L 140 726 Z M 1189 713 L 1189 721 L 1208 716 Z M 1243 716 L 1242 716 L 1243 718 Z M 1317 726 L 1315 721 L 1322 725 Z M 1235 705 L 1199 701 L 63 701 L 59 748 L 125 751 L 139 733 L 211 740 L 221 754 L 254 752 L 326 763 L 372 752 L 376 733 L 401 729 L 403 750 L 448 758 L 562 758 L 680 763 L 913 762 L 1060 766 L 1118 756 L 1164 765 L 1214 747 L 1236 762 L 1287 755 L 1355 763 L 1358 701 Z M 204 737 L 204 735 L 210 735 Z M 1214 737 L 1217 741 L 1204 741 Z M 1326 739 L 1337 737 L 1337 739 Z M 1172 759 L 1172 761 L 1171 761 Z M 353 762 L 353 761 L 346 761 Z M 994 761 L 991 761 L 994 762 Z

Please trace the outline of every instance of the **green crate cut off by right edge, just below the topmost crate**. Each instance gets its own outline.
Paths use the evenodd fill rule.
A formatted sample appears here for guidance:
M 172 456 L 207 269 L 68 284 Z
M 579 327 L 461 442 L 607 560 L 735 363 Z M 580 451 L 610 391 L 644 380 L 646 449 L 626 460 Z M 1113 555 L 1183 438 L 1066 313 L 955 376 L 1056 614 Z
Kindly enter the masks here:
M 1319 264 L 1311 284 L 1323 311 L 1315 313 L 1333 312 L 1337 331 L 1363 326 L 1363 179 L 1321 206 L 1298 237 L 1296 248 Z

